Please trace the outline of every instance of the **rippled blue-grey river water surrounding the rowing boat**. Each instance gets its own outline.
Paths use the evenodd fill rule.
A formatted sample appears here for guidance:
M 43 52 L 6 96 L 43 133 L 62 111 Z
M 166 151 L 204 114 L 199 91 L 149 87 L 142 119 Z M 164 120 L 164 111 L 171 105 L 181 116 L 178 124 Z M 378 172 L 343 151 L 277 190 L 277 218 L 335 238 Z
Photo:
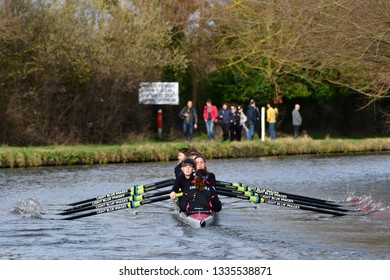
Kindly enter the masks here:
M 175 163 L 0 170 L 0 259 L 388 260 L 390 218 L 335 217 L 222 197 L 210 227 L 183 224 L 170 201 L 77 220 L 65 204 L 173 176 Z M 390 155 L 209 160 L 217 180 L 390 205 Z M 41 207 L 41 208 L 40 208 Z

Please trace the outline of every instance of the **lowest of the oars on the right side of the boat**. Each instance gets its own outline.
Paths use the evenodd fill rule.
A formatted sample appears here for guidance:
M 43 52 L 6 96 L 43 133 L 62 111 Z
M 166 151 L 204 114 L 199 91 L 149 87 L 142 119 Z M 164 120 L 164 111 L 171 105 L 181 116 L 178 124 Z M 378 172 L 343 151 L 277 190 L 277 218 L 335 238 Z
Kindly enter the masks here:
M 324 208 L 323 206 L 318 206 L 318 205 L 313 205 L 311 207 L 309 206 L 304 206 L 302 204 L 298 204 L 297 202 L 283 202 L 283 201 L 278 201 L 278 200 L 273 200 L 270 199 L 269 197 L 264 197 L 262 195 L 253 195 L 253 196 L 248 196 L 245 194 L 239 194 L 239 191 L 231 192 L 229 190 L 222 190 L 221 187 L 217 187 L 217 193 L 230 196 L 230 197 L 237 197 L 240 199 L 246 199 L 249 201 L 252 201 L 254 203 L 267 203 L 271 205 L 277 205 L 277 206 L 284 206 L 284 207 L 289 207 L 289 208 L 294 208 L 294 209 L 302 209 L 302 210 L 308 210 L 308 211 L 313 211 L 313 212 L 318 212 L 318 213 L 325 213 L 325 214 L 331 214 L 331 215 L 336 215 L 336 216 L 345 216 L 345 213 L 340 213 L 340 212 L 348 212 L 349 210 L 342 209 L 340 208 L 331 208 L 327 210 L 328 208 Z M 332 211 L 333 210 L 333 211 Z

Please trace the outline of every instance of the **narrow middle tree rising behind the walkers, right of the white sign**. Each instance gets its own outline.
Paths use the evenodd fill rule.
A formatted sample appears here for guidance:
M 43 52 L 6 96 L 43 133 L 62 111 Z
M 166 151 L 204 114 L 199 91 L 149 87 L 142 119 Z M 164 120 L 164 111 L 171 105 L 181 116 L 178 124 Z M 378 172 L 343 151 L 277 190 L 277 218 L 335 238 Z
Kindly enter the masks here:
M 216 2 L 218 1 L 160 1 L 164 17 L 175 27 L 173 37 L 189 59 L 185 77 L 189 77 L 191 89 L 186 97 L 199 108 L 203 108 L 207 99 L 207 76 L 215 69 L 213 5 Z M 186 100 L 183 103 L 185 102 Z

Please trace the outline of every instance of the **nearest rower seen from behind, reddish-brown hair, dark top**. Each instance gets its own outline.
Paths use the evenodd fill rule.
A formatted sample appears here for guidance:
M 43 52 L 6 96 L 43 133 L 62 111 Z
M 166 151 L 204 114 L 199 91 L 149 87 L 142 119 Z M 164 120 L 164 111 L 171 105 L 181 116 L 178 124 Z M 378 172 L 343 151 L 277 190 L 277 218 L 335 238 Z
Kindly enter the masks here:
M 206 170 L 196 170 L 195 179 L 183 187 L 183 197 L 179 201 L 179 208 L 187 214 L 221 211 L 221 201 L 214 186 L 207 180 Z

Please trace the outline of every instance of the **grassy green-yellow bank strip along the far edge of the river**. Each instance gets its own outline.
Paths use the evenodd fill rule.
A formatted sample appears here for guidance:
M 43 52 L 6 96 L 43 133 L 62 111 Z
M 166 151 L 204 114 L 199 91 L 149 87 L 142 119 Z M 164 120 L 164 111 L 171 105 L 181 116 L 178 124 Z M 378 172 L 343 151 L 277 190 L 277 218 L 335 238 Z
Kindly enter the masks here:
M 95 165 L 177 159 L 177 150 L 188 146 L 184 142 L 126 143 L 122 145 L 0 147 L 0 168 Z M 262 157 L 303 154 L 389 152 L 390 138 L 323 139 L 280 138 L 264 142 L 194 141 L 191 147 L 206 158 Z

